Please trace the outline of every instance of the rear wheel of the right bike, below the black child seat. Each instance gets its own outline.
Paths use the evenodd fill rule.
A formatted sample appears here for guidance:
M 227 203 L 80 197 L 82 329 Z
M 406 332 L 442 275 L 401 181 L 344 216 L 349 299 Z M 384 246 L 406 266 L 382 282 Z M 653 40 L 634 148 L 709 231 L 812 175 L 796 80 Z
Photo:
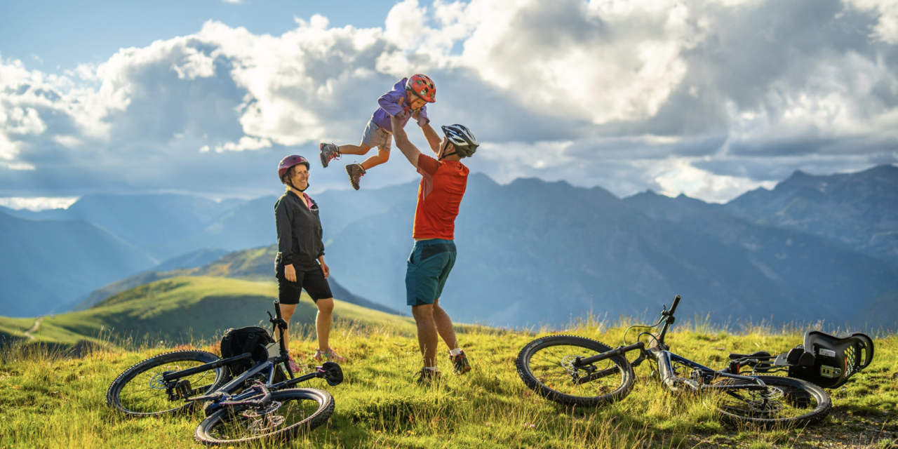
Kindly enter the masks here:
M 716 407 L 732 423 L 760 427 L 807 426 L 826 418 L 832 408 L 829 393 L 814 383 L 778 375 L 754 376 L 767 384 L 766 391 L 722 390 Z M 719 378 L 718 385 L 744 385 L 751 381 Z

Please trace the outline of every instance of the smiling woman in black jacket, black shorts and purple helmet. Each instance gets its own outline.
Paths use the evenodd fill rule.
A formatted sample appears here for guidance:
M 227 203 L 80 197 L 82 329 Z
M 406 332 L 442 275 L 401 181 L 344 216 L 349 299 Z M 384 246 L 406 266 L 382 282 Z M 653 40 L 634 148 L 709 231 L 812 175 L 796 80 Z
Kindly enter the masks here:
M 290 317 L 299 304 L 303 288 L 312 296 L 318 307 L 315 317 L 315 333 L 318 334 L 318 350 L 315 360 L 346 361 L 330 348 L 330 313 L 334 308 L 328 276 L 330 269 L 324 263 L 324 243 L 321 242 L 321 219 L 318 205 L 304 193 L 309 188 L 309 161 L 298 154 L 286 156 L 277 167 L 277 176 L 286 184 L 286 191 L 275 203 L 277 220 L 277 274 L 278 300 L 281 314 L 289 325 Z M 284 345 L 289 341 L 284 334 Z M 290 357 L 290 368 L 298 372 Z

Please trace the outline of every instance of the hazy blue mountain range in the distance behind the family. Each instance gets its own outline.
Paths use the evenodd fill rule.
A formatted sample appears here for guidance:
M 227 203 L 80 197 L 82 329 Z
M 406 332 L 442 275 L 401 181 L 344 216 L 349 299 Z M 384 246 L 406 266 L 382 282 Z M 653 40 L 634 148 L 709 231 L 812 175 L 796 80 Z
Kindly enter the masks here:
M 348 292 L 390 309 L 407 310 L 403 279 L 412 245 L 416 189 L 417 183 L 409 183 L 313 195 L 321 207 L 325 257 Z M 116 199 L 110 204 L 134 203 Z M 175 222 L 189 225 L 166 225 L 168 231 L 155 231 L 134 242 L 111 232 L 110 228 L 118 228 L 105 216 L 97 219 L 105 225 L 94 226 L 97 236 L 84 242 L 101 234 L 117 238 L 134 251 L 136 260 L 143 260 L 123 265 L 121 271 L 130 272 L 110 280 L 146 269 L 163 272 L 172 267 L 153 269 L 163 255 L 191 260 L 194 256 L 186 253 L 219 251 L 217 255 L 274 243 L 276 199 L 204 200 L 214 204 L 196 207 L 198 211 Z M 187 199 L 179 201 L 189 204 Z M 139 207 L 128 210 L 134 216 L 143 213 Z M 28 216 L 30 227 L 20 226 L 14 233 L 31 233 L 38 224 L 50 222 L 76 223 L 33 220 L 71 218 L 61 211 L 18 212 L 20 217 L 7 215 L 7 221 Z M 90 225 L 84 218 L 77 223 Z M 826 320 L 864 326 L 885 320 L 880 324 L 892 326 L 898 317 L 894 313 L 898 305 L 890 300 L 898 293 L 895 235 L 898 168 L 891 165 L 827 176 L 796 172 L 775 189 L 746 192 L 723 205 L 652 192 L 621 199 L 601 188 L 577 188 L 563 181 L 523 179 L 500 185 L 472 174 L 456 222 L 458 260 L 442 304 L 459 321 L 518 326 L 559 324 L 589 310 L 611 319 L 654 313 L 659 304 L 669 304 L 679 294 L 684 306 L 702 315 L 711 313 L 718 322 Z M 40 240 L 29 242 L 31 251 L 43 251 Z M 8 243 L 3 244 L 5 248 Z M 23 257 L 21 251 L 13 257 L 6 252 L 0 260 L 9 270 L 7 276 L 18 277 L 22 286 L 39 286 L 35 271 L 18 269 L 15 258 Z M 206 257 L 180 263 L 194 269 L 213 253 Z M 81 263 L 92 269 L 91 262 Z M 270 261 L 266 264 L 262 276 L 270 268 Z M 7 290 L 4 283 L 0 314 L 15 316 L 12 310 L 20 311 L 19 316 L 40 314 L 48 307 L 31 307 L 27 313 L 21 307 L 10 308 L 13 296 Z M 88 291 L 67 301 L 84 300 Z

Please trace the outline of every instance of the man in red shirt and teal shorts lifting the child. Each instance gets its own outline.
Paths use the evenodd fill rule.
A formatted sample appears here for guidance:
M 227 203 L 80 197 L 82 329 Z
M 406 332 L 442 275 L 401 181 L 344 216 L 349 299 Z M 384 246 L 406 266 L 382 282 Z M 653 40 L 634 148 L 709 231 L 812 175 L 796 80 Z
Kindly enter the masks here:
M 412 233 L 415 246 L 405 274 L 406 300 L 418 324 L 418 345 L 424 356 L 418 383 L 429 383 L 440 376 L 436 366 L 437 336 L 442 337 L 449 347 L 453 371 L 464 374 L 471 370 L 468 357 L 458 347 L 452 320 L 440 307 L 440 295 L 455 264 L 455 216 L 458 216 L 468 184 L 468 167 L 461 160 L 474 154 L 478 143 L 471 131 L 462 125 L 443 127 L 445 137 L 442 140 L 434 128 L 424 125 L 421 130 L 436 153 L 434 159 L 421 154 L 409 142 L 409 136 L 401 127 L 403 118 L 391 117 L 393 138 L 409 163 L 421 173 Z

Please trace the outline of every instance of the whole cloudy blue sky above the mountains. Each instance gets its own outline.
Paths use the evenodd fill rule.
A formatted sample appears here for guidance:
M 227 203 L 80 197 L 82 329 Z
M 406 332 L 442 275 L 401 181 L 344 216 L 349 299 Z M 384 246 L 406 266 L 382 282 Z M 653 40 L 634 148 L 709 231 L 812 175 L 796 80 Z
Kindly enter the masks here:
M 499 182 L 726 201 L 898 161 L 888 0 L 4 2 L 0 203 L 277 193 L 277 161 L 357 143 L 414 73 Z M 363 188 L 417 176 L 393 157 Z

